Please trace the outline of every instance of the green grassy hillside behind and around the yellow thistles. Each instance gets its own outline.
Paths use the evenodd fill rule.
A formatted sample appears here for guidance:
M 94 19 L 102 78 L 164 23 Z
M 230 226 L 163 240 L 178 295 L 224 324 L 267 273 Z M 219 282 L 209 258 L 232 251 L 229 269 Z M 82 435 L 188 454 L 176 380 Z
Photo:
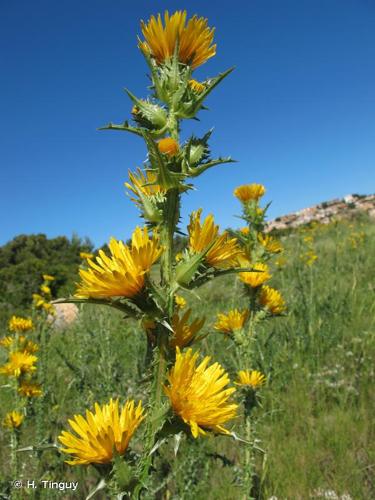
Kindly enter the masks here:
M 373 401 L 375 355 L 375 227 L 368 219 L 312 226 L 284 236 L 272 285 L 282 291 L 288 314 L 262 323 L 251 368 L 267 376 L 257 408 L 257 481 L 254 496 L 269 499 L 375 497 Z M 316 258 L 315 258 L 316 257 Z M 238 307 L 241 286 L 232 277 L 202 287 L 200 299 L 186 295 L 197 315 L 207 317 L 201 342 L 234 375 L 232 344 L 212 328 L 216 313 Z M 4 332 L 5 333 L 5 332 Z M 20 446 L 54 443 L 67 419 L 109 397 L 142 398 L 147 372 L 144 333 L 121 313 L 82 306 L 79 319 L 51 332 L 44 418 L 30 412 Z M 1 352 L 0 356 L 3 355 Z M 3 362 L 3 359 L 0 361 Z M 0 392 L 1 419 L 11 391 Z M 137 441 L 138 439 L 138 441 Z M 237 499 L 236 466 L 244 446 L 226 437 L 183 438 L 159 449 L 150 498 Z M 192 439 L 192 438 L 190 438 Z M 141 434 L 135 450 L 142 446 Z M 9 494 L 9 432 L 1 435 L 0 492 Z M 22 479 L 78 480 L 77 492 L 22 490 L 20 498 L 85 498 L 99 480 L 96 470 L 64 464 L 54 448 L 19 453 Z M 332 490 L 336 497 L 328 495 Z M 14 494 L 14 490 L 13 490 Z M 64 496 L 65 495 L 65 496 Z M 345 497 L 344 495 L 350 495 Z M 38 498 L 39 498 L 38 497 Z M 6 498 L 6 497 L 5 497 Z M 107 498 L 99 493 L 96 498 Z

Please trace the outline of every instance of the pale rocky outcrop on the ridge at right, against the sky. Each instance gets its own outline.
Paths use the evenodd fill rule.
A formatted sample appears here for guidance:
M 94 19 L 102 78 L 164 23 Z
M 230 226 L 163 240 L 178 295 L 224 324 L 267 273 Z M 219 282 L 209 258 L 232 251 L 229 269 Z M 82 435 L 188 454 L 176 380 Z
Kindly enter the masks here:
M 267 231 L 294 228 L 312 221 L 328 224 L 332 219 L 348 217 L 353 211 L 364 211 L 371 217 L 375 217 L 375 195 L 349 194 L 342 199 L 325 201 L 313 207 L 277 217 L 268 223 Z

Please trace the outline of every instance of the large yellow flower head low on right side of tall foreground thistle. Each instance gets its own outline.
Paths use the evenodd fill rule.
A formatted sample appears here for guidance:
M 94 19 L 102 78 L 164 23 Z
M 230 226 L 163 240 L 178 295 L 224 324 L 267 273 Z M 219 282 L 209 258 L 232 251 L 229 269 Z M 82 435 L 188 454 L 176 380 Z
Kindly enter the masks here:
M 228 401 L 236 389 L 224 389 L 230 380 L 219 363 L 208 366 L 211 358 L 206 356 L 196 366 L 197 359 L 198 353 L 191 349 L 184 353 L 176 349 L 165 393 L 174 413 L 190 426 L 195 438 L 206 434 L 206 430 L 229 434 L 223 424 L 237 416 L 238 405 Z

